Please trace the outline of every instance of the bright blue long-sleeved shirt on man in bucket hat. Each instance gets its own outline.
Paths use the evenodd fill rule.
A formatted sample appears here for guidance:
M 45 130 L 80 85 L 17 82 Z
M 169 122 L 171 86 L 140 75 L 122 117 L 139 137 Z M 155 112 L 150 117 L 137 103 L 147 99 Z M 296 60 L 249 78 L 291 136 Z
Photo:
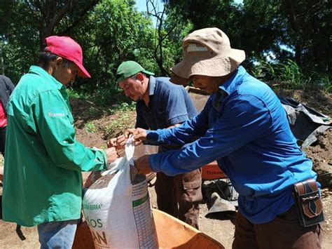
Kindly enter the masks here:
M 239 67 L 191 121 L 148 131 L 148 144 L 185 144 L 150 156 L 155 172 L 177 175 L 217 160 L 239 192 L 241 213 L 260 224 L 293 205 L 292 185 L 315 178 L 312 161 L 296 144 L 281 103 L 263 82 Z

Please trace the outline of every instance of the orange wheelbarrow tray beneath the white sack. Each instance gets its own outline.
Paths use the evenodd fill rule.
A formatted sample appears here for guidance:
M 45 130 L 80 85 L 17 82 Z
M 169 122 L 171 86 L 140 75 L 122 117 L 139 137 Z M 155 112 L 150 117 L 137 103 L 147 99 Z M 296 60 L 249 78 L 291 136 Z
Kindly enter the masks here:
M 198 229 L 153 208 L 159 248 L 209 248 L 223 249 L 223 245 Z M 78 225 L 73 249 L 95 249 L 92 235 L 86 222 Z

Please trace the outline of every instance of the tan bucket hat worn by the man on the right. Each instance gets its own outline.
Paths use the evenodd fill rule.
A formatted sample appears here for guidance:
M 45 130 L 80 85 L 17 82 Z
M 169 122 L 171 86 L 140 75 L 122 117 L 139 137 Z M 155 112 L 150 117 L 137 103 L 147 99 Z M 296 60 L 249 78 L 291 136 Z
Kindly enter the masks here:
M 187 83 L 192 75 L 224 76 L 246 58 L 244 51 L 230 47 L 228 36 L 216 27 L 198 29 L 182 40 L 184 60 L 171 68 L 173 83 Z

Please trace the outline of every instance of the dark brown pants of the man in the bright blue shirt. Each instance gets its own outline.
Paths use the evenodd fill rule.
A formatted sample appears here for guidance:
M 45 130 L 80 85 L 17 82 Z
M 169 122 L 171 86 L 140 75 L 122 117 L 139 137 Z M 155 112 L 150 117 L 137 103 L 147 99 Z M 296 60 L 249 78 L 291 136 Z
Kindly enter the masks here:
M 321 227 L 319 224 L 302 227 L 295 206 L 263 224 L 252 224 L 238 212 L 233 249 L 240 248 L 318 249 L 321 248 Z

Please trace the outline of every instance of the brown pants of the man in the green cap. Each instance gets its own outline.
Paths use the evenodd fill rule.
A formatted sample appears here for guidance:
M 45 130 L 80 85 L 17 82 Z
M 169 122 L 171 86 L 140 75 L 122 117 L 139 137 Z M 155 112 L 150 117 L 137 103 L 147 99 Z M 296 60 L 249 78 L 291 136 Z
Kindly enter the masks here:
M 155 192 L 158 209 L 198 229 L 200 201 L 202 201 L 201 170 L 167 176 L 157 173 Z

